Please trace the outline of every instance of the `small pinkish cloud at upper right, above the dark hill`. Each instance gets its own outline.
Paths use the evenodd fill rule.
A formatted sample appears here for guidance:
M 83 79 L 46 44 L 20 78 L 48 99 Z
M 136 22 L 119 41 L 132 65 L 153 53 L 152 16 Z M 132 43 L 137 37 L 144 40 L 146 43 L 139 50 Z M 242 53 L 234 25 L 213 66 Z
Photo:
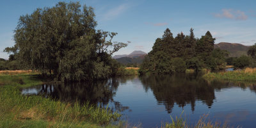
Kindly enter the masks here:
M 215 13 L 214 17 L 235 19 L 235 20 L 247 20 L 248 16 L 241 10 L 223 9 L 221 13 Z

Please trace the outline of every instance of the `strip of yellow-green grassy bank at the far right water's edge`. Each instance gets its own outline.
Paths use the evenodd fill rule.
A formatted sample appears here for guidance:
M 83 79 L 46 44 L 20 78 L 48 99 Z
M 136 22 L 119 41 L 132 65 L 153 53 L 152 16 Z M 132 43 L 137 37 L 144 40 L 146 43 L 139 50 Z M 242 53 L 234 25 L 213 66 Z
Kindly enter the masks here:
M 209 72 L 203 76 L 205 79 L 228 81 L 256 81 L 256 68 L 245 68 L 233 72 Z

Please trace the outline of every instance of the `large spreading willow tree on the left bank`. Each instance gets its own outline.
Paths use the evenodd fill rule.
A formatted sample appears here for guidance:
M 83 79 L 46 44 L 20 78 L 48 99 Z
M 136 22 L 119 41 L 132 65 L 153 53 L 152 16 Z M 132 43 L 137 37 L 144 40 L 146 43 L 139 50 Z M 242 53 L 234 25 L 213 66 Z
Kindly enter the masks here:
M 92 7 L 58 3 L 23 15 L 15 45 L 7 47 L 23 68 L 51 74 L 61 81 L 101 79 L 115 74 L 111 54 L 127 44 L 111 42 L 117 33 L 96 30 Z

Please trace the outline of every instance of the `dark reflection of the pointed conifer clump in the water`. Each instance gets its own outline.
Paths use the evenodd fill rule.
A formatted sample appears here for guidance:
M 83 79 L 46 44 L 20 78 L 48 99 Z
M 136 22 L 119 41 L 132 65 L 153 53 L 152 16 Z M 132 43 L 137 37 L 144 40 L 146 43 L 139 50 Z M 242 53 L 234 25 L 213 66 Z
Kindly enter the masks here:
M 145 90 L 152 90 L 158 104 L 164 104 L 168 113 L 172 112 L 174 104 L 184 107 L 191 105 L 195 111 L 195 101 L 202 100 L 211 108 L 214 96 L 214 87 L 210 86 L 200 75 L 175 74 L 173 76 L 151 75 L 141 77 Z

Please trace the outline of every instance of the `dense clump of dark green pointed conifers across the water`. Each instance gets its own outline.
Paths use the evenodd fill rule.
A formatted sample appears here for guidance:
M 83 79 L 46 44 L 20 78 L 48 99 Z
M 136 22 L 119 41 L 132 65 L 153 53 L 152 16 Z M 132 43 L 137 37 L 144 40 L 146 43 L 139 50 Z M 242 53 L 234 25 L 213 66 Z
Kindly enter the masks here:
M 227 51 L 214 49 L 214 40 L 207 31 L 201 38 L 195 38 L 193 28 L 189 35 L 183 33 L 173 37 L 166 29 L 162 38 L 157 38 L 152 51 L 148 52 L 141 67 L 140 74 L 152 72 L 157 74 L 185 72 L 186 68 L 196 71 L 202 68 L 220 70 L 225 68 Z

